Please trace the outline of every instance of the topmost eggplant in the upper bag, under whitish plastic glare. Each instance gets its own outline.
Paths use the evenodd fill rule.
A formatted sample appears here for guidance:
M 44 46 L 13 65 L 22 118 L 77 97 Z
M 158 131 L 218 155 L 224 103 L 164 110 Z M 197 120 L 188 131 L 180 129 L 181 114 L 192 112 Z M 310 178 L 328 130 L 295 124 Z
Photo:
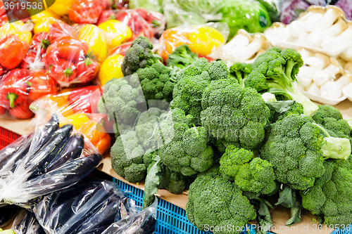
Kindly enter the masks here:
M 51 115 L 51 119 L 49 122 L 47 122 L 44 126 L 42 126 L 42 129 L 39 129 L 41 131 L 41 136 L 38 137 L 37 141 L 33 141 L 33 155 L 40 149 L 42 146 L 49 141 L 51 136 L 54 134 L 56 130 L 58 130 L 59 126 L 59 120 L 58 120 L 58 115 L 55 113 Z

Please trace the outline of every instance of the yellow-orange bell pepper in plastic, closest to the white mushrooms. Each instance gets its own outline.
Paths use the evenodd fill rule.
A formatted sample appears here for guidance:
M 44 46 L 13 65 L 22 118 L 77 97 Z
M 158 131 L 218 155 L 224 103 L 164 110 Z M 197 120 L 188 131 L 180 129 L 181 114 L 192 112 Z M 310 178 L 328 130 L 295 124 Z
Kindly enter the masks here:
M 207 56 L 218 48 L 221 44 L 224 44 L 225 39 L 222 34 L 215 30 L 213 27 L 208 26 L 193 26 L 194 32 L 189 34 L 189 48 L 194 53 L 198 53 L 202 56 Z

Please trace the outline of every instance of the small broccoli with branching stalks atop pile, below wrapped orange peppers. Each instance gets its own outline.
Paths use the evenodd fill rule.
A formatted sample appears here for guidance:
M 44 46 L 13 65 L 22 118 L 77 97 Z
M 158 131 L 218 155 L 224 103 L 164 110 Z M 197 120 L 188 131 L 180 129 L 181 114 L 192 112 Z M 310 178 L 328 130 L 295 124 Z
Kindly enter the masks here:
M 198 56 L 196 53 L 191 52 L 191 49 L 187 44 L 183 44 L 182 46 L 175 48 L 175 51 L 169 55 L 168 60 L 166 60 L 166 65 L 168 67 L 179 67 L 184 69 L 184 67 L 187 67 L 197 59 Z

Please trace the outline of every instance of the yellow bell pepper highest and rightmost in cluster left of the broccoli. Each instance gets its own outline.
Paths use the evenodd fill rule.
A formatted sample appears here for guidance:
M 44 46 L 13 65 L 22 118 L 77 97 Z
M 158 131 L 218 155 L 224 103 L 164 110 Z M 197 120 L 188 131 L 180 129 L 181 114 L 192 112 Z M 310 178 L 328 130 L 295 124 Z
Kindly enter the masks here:
M 98 27 L 106 32 L 108 47 L 115 48 L 132 38 L 132 30 L 119 20 L 107 20 Z

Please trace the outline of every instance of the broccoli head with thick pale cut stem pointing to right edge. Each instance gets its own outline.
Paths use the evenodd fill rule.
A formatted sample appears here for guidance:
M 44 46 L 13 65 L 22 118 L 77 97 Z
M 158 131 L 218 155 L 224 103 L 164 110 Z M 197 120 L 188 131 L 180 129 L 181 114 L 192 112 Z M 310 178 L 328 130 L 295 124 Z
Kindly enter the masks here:
M 272 163 L 277 181 L 306 190 L 325 173 L 324 159 L 346 160 L 348 150 L 348 139 L 330 137 L 311 117 L 295 114 L 271 125 L 260 157 Z

